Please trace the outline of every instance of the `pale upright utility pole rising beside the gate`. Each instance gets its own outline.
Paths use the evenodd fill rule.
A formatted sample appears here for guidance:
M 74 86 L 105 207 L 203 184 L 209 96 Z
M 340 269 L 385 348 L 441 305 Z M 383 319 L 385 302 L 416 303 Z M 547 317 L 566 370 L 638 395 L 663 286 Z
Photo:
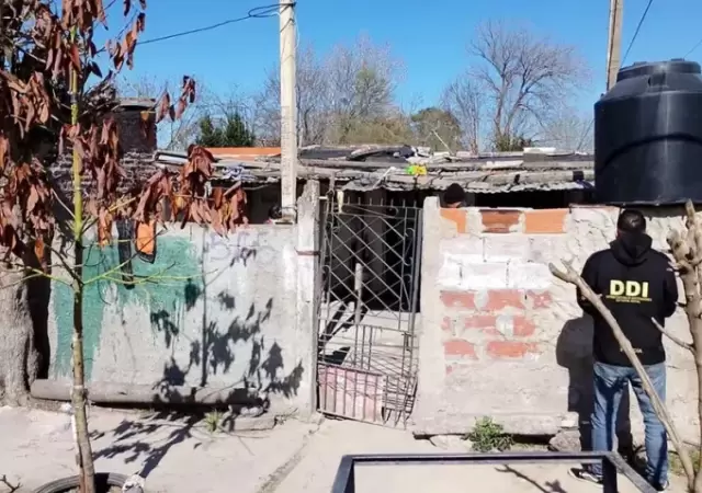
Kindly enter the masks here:
M 295 221 L 297 199 L 296 26 L 294 0 L 280 0 L 281 36 L 281 209 Z

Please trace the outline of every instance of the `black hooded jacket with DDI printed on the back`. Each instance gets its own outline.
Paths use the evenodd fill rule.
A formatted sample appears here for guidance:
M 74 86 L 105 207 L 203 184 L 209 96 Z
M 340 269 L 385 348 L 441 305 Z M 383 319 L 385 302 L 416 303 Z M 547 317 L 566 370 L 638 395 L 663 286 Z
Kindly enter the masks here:
M 626 233 L 608 250 L 592 254 L 582 267 L 582 279 L 601 295 L 644 365 L 666 360 L 661 325 L 676 311 L 678 286 L 670 261 L 650 248 L 650 237 Z M 600 363 L 631 366 L 607 321 L 578 291 L 578 305 L 595 320 L 593 354 Z

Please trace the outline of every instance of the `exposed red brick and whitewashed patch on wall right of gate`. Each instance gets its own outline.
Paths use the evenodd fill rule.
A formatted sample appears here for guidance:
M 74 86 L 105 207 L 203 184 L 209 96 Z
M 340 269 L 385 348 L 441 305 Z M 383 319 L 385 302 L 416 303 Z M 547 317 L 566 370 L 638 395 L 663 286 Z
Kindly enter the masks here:
M 471 213 L 473 234 L 467 227 Z M 536 320 L 540 312 L 552 309 L 553 300 L 544 264 L 530 262 L 532 244 L 539 248 L 537 237 L 532 236 L 564 234 L 567 210 L 442 209 L 440 214 L 456 225 L 458 233 L 468 234 L 454 243 L 469 249 L 469 253 L 446 252 L 439 272 L 446 374 L 460 369 L 466 357 L 520 359 L 541 353 Z

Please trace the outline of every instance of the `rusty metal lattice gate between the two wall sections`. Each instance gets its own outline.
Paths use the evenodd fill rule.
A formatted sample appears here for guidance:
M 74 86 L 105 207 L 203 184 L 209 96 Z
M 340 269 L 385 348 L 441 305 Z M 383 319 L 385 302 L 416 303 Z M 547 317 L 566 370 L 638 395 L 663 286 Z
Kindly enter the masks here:
M 318 409 L 405 425 L 417 390 L 422 211 L 331 197 L 322 209 Z

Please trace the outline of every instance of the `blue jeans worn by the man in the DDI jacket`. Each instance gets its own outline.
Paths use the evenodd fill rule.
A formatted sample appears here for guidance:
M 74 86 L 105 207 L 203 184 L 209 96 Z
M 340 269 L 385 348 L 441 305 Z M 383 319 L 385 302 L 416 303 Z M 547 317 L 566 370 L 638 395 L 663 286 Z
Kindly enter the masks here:
M 658 397 L 666 400 L 666 364 L 646 366 L 646 372 Z M 592 449 L 609 451 L 614 449 L 616 413 L 622 394 L 630 382 L 638 400 L 644 416 L 646 433 L 646 479 L 652 484 L 665 484 L 668 480 L 668 436 L 663 423 L 656 416 L 650 399 L 644 392 L 636 370 L 629 366 L 613 366 L 595 363 L 595 409 L 592 411 Z M 592 467 L 592 473 L 602 474 L 600 465 Z

